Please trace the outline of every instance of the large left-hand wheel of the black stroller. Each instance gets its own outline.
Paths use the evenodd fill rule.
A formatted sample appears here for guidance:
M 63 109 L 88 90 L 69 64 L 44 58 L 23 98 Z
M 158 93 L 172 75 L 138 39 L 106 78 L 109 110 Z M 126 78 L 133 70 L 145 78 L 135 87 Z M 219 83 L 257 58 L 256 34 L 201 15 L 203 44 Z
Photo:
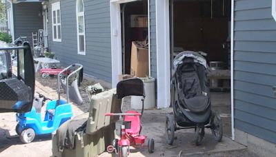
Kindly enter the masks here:
M 166 116 L 166 140 L 169 145 L 172 145 L 175 139 L 175 118 L 173 115 L 167 114 Z

